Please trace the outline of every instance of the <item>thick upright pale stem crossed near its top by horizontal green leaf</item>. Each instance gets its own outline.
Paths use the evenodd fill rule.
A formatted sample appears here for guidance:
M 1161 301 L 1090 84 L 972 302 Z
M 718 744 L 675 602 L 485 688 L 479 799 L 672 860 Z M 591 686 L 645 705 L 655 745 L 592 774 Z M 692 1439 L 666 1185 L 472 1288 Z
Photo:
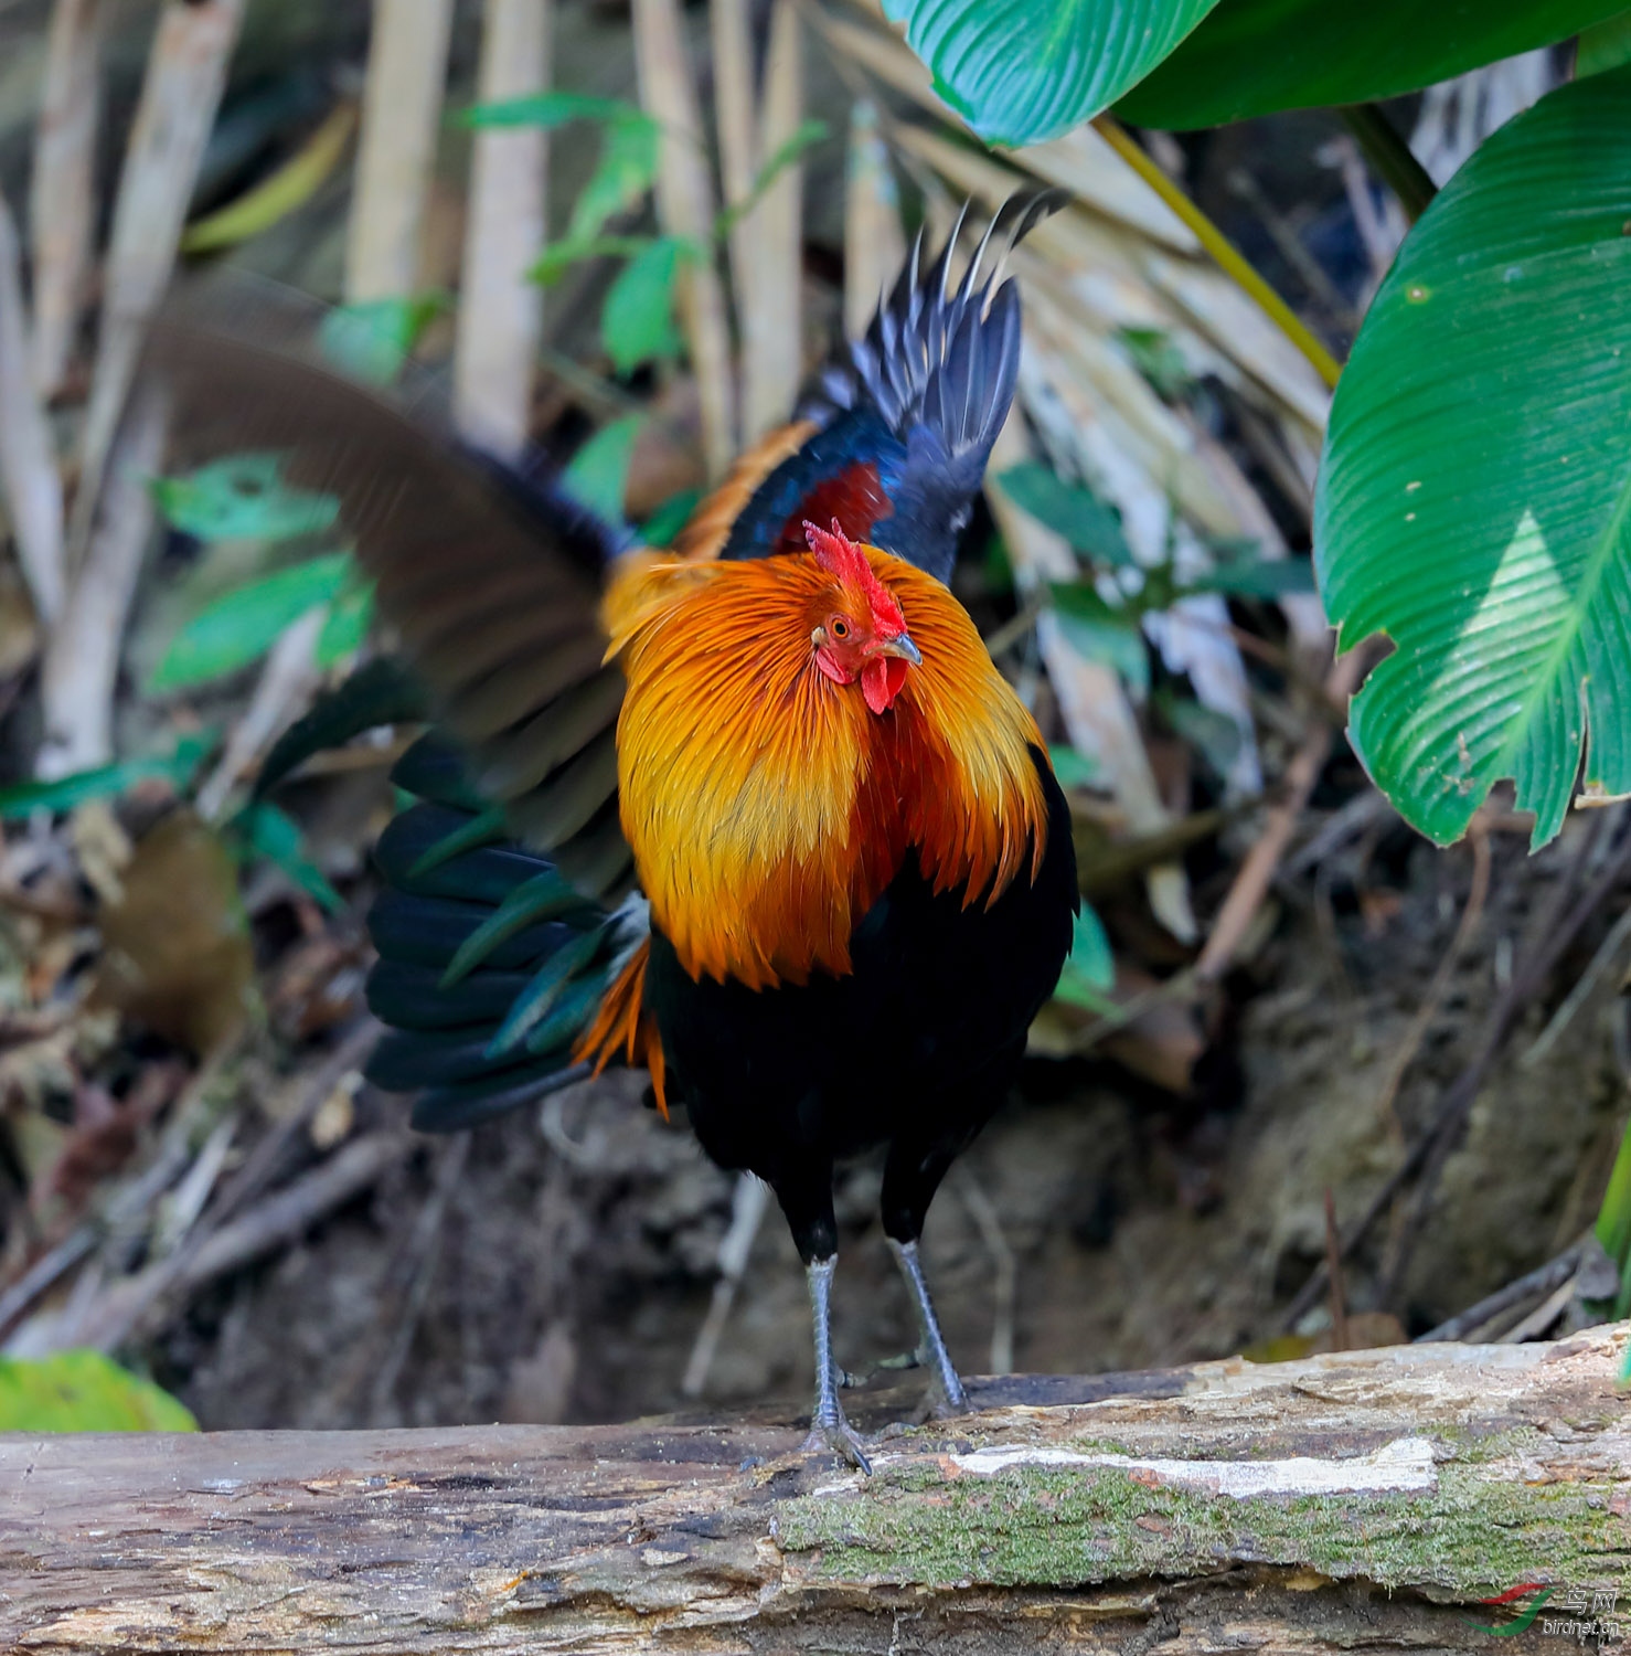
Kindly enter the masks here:
M 480 101 L 543 91 L 553 30 L 555 0 L 487 0 Z M 546 136 L 528 128 L 480 131 L 472 144 L 454 406 L 465 437 L 507 457 L 532 426 L 543 288 L 527 272 L 546 235 L 548 159 Z

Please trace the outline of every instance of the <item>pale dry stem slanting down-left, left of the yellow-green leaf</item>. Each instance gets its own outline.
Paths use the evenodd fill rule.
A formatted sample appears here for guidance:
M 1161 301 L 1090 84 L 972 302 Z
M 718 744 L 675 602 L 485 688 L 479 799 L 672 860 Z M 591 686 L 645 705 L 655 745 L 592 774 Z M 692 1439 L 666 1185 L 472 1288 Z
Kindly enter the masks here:
M 114 204 L 103 320 L 84 416 L 84 459 L 68 532 L 84 561 L 142 333 L 176 265 L 192 187 L 227 84 L 245 0 L 169 0 L 147 58 Z

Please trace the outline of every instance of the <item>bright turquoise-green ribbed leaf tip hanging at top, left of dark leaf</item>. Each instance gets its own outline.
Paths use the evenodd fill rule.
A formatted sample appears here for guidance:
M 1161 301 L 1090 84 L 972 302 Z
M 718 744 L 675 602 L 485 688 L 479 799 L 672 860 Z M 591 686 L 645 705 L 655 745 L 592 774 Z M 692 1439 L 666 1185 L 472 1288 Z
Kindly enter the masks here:
M 994 144 L 1058 137 L 1136 86 L 1217 0 L 892 0 L 936 91 Z

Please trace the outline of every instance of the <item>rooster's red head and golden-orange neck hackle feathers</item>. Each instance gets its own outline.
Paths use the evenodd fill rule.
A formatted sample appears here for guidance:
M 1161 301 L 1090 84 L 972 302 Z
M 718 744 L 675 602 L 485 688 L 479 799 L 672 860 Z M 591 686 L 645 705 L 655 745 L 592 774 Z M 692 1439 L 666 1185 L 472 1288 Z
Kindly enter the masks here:
M 934 576 L 820 530 L 806 555 L 633 555 L 606 628 L 628 681 L 623 828 L 694 977 L 848 972 L 909 851 L 967 903 L 1040 866 L 1042 739 Z

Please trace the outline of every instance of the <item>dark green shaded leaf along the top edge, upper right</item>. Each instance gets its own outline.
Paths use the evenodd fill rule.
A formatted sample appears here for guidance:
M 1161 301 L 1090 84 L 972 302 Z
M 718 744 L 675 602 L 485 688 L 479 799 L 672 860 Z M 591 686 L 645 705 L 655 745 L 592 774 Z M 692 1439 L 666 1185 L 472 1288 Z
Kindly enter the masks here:
M 1568 40 L 1624 0 L 1222 0 L 1119 104 L 1139 126 L 1369 103 Z

